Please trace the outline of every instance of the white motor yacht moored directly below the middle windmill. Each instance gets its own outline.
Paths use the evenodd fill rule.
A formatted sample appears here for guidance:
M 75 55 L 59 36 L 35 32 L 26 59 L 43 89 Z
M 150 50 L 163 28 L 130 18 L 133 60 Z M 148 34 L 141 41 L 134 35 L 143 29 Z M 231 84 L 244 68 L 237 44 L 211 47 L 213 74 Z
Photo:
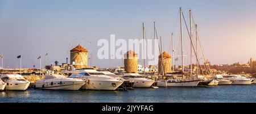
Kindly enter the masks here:
M 138 73 L 123 73 L 119 74 L 126 81 L 134 82 L 133 87 L 151 87 L 155 82 L 153 79 L 145 78 Z

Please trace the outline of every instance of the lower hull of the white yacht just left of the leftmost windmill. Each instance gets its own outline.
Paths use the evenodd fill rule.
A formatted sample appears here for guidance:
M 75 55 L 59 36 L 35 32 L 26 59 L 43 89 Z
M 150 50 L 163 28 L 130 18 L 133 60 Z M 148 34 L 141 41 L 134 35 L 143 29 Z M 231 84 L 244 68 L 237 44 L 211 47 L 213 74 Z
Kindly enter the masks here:
M 44 90 L 79 90 L 85 81 L 63 81 L 60 85 L 59 82 L 44 82 L 44 83 L 35 83 L 35 88 L 40 88 Z

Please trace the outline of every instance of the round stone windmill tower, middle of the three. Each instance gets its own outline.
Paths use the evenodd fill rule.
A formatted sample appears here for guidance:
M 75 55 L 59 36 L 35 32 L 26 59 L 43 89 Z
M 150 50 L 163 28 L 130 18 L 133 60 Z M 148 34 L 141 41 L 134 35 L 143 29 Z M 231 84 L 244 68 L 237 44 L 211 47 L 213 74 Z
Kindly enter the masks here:
M 138 73 L 138 54 L 133 50 L 125 53 L 125 71 L 127 73 Z

